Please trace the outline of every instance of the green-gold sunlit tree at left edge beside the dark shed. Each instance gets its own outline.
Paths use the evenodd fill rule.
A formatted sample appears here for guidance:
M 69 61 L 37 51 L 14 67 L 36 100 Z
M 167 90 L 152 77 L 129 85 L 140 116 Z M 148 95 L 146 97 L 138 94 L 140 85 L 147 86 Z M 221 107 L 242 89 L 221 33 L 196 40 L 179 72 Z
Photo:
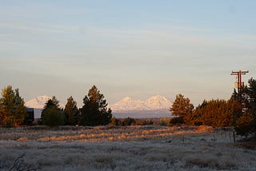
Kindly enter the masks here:
M 26 117 L 26 106 L 18 89 L 15 91 L 10 85 L 2 89 L 0 98 L 0 124 L 5 127 L 18 126 Z

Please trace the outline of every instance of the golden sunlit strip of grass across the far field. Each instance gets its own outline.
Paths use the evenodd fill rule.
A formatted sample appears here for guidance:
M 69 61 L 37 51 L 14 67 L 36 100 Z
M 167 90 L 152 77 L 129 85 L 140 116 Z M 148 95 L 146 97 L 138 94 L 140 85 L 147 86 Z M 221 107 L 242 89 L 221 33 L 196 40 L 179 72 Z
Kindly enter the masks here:
M 6 129 L 7 130 L 7 129 Z M 60 131 L 61 130 L 61 131 Z M 166 138 L 183 133 L 204 133 L 213 131 L 211 127 L 161 127 L 161 126 L 130 126 L 113 127 L 102 129 L 102 127 L 78 129 L 18 129 L 17 132 L 1 133 L 2 140 L 14 141 L 130 141 L 135 139 Z

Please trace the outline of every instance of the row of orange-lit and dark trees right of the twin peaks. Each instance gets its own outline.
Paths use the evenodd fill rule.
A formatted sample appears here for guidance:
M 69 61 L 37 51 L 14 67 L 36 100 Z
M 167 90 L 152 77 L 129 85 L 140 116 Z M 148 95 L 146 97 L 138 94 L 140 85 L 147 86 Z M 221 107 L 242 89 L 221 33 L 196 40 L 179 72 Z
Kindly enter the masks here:
M 214 127 L 233 126 L 239 135 L 256 136 L 256 80 L 250 78 L 248 85 L 234 93 L 229 100 L 202 101 L 194 108 L 188 97 L 178 94 L 170 112 L 174 116 L 170 125 L 210 125 Z

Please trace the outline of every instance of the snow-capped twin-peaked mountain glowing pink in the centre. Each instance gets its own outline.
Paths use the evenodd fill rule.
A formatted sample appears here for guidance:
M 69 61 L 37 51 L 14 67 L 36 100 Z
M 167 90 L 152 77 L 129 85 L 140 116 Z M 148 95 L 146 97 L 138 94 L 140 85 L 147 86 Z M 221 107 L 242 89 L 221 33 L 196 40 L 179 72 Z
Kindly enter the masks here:
M 120 111 L 141 111 L 141 110 L 158 110 L 158 109 L 170 109 L 171 102 L 160 95 L 150 97 L 146 101 L 135 100 L 131 97 L 124 97 L 121 101 L 110 105 L 110 108 L 114 112 Z

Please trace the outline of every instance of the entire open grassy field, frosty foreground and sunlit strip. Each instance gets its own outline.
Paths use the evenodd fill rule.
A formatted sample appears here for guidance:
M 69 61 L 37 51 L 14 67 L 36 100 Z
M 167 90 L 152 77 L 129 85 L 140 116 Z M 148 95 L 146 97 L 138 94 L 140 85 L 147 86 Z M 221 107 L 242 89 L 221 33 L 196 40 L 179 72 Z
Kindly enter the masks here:
M 21 156 L 24 170 L 256 170 L 255 149 L 202 126 L 1 128 L 0 170 Z

